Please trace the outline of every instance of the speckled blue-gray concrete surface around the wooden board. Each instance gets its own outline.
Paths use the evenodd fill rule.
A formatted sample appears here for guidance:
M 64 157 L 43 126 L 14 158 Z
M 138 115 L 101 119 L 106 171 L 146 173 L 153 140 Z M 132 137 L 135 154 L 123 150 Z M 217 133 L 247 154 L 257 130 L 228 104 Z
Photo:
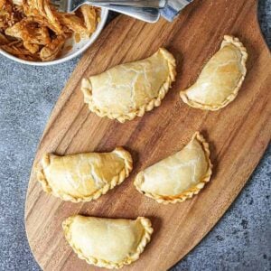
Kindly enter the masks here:
M 271 45 L 271 0 L 259 1 L 259 20 Z M 24 232 L 25 193 L 42 130 L 78 61 L 34 68 L 0 57 L 0 270 L 40 270 Z M 271 269 L 270 158 L 271 147 L 228 212 L 173 271 Z

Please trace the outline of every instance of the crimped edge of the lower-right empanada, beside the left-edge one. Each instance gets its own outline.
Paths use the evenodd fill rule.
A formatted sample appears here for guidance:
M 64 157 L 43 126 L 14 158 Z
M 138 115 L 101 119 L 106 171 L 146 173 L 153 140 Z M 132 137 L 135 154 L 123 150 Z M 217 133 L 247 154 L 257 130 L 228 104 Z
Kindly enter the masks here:
M 138 173 L 135 177 L 135 188 L 138 192 L 144 194 L 145 196 L 154 199 L 155 201 L 157 201 L 158 203 L 163 203 L 163 204 L 168 204 L 168 203 L 179 203 L 182 201 L 186 201 L 187 199 L 191 199 L 193 195 L 198 194 L 201 189 L 204 187 L 206 182 L 210 182 L 210 176 L 212 173 L 212 164 L 210 162 L 210 149 L 209 149 L 209 144 L 207 143 L 207 141 L 204 139 L 204 137 L 200 134 L 200 132 L 196 132 L 193 136 L 192 136 L 192 140 L 196 139 L 202 146 L 202 150 L 205 154 L 207 163 L 208 163 L 208 169 L 207 172 L 205 173 L 204 177 L 202 178 L 201 182 L 197 183 L 196 186 L 192 187 L 191 189 L 182 192 L 181 194 L 177 195 L 177 196 L 162 196 L 162 195 L 158 195 L 155 193 L 151 193 L 151 192 L 143 192 L 141 190 L 141 184 L 144 182 L 144 171 Z M 190 142 L 191 142 L 190 141 Z M 188 143 L 189 144 L 189 143 Z

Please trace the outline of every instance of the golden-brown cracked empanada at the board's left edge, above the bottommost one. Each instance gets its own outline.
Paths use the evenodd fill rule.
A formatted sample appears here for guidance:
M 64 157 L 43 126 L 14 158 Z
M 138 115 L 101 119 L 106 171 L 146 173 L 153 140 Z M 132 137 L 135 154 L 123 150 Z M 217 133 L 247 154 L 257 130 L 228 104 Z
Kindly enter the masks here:
M 131 154 L 122 147 L 111 153 L 57 156 L 45 154 L 37 170 L 45 192 L 64 201 L 91 201 L 123 182 L 133 168 Z

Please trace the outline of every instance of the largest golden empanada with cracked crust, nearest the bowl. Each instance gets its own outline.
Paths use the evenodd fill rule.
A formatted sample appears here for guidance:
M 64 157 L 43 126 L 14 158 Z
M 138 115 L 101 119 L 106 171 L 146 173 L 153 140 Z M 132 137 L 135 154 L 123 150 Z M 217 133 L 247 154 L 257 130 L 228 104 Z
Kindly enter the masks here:
M 81 89 L 89 109 L 119 122 L 142 117 L 159 107 L 175 79 L 173 55 L 160 48 L 151 57 L 121 64 L 83 79 Z

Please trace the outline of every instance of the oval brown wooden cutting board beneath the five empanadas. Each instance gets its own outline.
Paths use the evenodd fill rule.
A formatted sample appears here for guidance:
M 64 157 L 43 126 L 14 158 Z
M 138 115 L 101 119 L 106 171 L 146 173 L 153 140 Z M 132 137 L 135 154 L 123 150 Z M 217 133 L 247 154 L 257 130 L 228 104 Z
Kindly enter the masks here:
M 182 103 L 179 91 L 194 82 L 202 65 L 232 34 L 248 49 L 248 75 L 228 107 L 206 112 Z M 178 76 L 161 107 L 125 124 L 100 118 L 83 102 L 80 81 L 126 61 L 150 56 L 164 46 L 177 59 Z M 61 69 L 61 66 L 60 66 Z M 152 220 L 154 235 L 140 259 L 124 270 L 165 270 L 182 259 L 220 220 L 253 172 L 271 135 L 271 58 L 257 23 L 255 0 L 195 0 L 173 22 L 147 24 L 119 16 L 85 53 L 61 93 L 42 136 L 42 154 L 111 151 L 125 146 L 135 168 L 123 184 L 89 203 L 64 202 L 42 192 L 31 174 L 25 207 L 27 237 L 42 269 L 100 270 L 80 260 L 61 230 L 77 213 Z M 161 205 L 135 191 L 135 174 L 173 154 L 195 131 L 210 142 L 214 173 L 192 200 Z

